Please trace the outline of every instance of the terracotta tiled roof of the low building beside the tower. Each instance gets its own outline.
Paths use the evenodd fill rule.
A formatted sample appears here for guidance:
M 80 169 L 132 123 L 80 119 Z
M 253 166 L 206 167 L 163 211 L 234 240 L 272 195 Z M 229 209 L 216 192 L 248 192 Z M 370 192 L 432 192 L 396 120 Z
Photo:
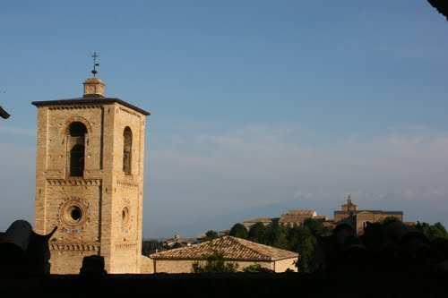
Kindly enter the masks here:
M 298 256 L 297 252 L 280 250 L 237 237 L 224 236 L 189 247 L 156 252 L 151 254 L 150 258 L 156 260 L 203 260 L 215 252 L 222 253 L 227 260 L 269 261 L 297 258 Z

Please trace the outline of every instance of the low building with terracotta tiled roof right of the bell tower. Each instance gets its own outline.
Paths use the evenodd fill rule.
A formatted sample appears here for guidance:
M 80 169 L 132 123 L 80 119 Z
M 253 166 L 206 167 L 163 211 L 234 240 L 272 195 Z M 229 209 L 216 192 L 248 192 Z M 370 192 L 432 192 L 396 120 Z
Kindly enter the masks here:
M 189 273 L 192 272 L 194 263 L 203 262 L 216 252 L 221 253 L 228 262 L 237 263 L 238 270 L 258 264 L 274 272 L 285 272 L 287 269 L 297 271 L 297 252 L 280 250 L 232 236 L 156 252 L 151 254 L 150 258 L 154 273 Z

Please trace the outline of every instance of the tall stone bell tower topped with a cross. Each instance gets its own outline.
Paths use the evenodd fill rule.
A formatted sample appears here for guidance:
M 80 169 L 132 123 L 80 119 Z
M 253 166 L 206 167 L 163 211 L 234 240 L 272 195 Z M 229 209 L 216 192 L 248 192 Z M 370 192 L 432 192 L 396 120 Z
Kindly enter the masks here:
M 98 66 L 98 64 L 96 64 Z M 109 273 L 140 273 L 143 152 L 149 112 L 83 82 L 82 98 L 38 108 L 35 229 L 47 234 L 51 273 L 79 273 L 101 255 Z

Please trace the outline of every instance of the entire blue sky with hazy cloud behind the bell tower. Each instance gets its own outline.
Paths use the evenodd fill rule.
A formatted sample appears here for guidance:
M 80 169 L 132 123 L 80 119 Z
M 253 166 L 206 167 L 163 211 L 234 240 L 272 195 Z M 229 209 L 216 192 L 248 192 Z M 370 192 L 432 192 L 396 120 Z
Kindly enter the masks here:
M 347 193 L 448 224 L 448 23 L 426 1 L 14 1 L 0 7 L 0 227 L 33 220 L 32 100 L 150 109 L 144 230 L 200 234 Z

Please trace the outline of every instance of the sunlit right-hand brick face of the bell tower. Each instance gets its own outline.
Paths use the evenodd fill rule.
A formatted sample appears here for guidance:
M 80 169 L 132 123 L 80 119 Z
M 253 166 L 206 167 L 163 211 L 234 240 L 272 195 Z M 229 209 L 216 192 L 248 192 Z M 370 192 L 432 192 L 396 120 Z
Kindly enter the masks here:
M 124 106 L 115 106 L 112 258 L 116 273 L 139 273 L 142 255 L 142 185 L 144 162 L 144 116 Z M 123 171 L 124 132 L 133 135 L 131 175 Z

